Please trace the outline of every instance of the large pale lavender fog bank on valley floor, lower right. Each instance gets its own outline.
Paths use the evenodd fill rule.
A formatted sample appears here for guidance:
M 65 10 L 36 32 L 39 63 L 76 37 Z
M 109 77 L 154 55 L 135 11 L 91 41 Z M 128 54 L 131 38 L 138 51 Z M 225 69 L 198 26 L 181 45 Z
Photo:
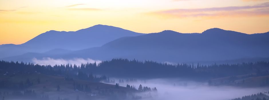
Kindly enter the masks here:
M 136 88 L 141 84 L 143 87 L 156 87 L 158 95 L 152 95 L 149 100 L 229 100 L 245 95 L 268 91 L 269 88 L 242 88 L 231 86 L 208 86 L 207 83 L 183 81 L 179 79 L 149 79 L 137 80 L 136 82 L 119 83 L 120 86 L 134 85 Z M 118 83 L 119 79 L 115 79 Z M 143 95 L 148 95 L 145 93 Z M 142 95 L 142 97 L 143 97 Z M 147 98 L 144 98 L 147 100 Z

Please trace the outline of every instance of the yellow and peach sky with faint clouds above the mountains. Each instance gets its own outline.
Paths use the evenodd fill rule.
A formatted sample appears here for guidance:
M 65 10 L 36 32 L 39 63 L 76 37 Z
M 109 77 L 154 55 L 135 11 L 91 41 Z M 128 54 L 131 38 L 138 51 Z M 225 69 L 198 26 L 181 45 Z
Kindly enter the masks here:
M 0 0 L 0 44 L 97 24 L 139 33 L 269 31 L 269 0 Z

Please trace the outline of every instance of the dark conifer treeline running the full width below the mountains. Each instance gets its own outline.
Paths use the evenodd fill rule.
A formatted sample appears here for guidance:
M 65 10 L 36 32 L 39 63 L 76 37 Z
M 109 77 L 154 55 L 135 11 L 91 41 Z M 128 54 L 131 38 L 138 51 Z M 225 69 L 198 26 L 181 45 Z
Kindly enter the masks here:
M 256 73 L 256 76 L 269 75 L 269 63 L 260 61 L 256 63 L 238 63 L 238 64 L 212 64 L 212 65 L 188 65 L 169 63 L 157 63 L 155 61 L 138 61 L 128 59 L 112 59 L 102 61 L 101 63 L 85 63 L 81 65 L 34 65 L 33 63 L 19 63 L 0 61 L 0 69 L 3 71 L 37 71 L 44 74 L 70 73 L 79 74 L 82 79 L 93 80 L 94 76 L 89 73 L 108 75 L 112 77 L 137 77 L 137 78 L 161 78 L 161 77 L 182 77 L 196 79 L 210 79 L 218 77 L 228 77 Z M 86 77 L 88 75 L 88 77 Z M 94 80 L 93 80 L 94 81 Z M 100 80 L 98 80 L 100 81 Z

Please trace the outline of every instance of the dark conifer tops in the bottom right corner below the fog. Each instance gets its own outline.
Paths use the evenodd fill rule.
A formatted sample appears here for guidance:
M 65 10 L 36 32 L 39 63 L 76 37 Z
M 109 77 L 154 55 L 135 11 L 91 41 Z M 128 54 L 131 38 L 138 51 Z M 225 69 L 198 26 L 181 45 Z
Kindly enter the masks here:
M 269 100 L 269 96 L 266 95 L 265 93 L 257 93 L 257 94 L 252 94 L 252 95 L 247 95 L 242 98 L 235 98 L 231 100 Z

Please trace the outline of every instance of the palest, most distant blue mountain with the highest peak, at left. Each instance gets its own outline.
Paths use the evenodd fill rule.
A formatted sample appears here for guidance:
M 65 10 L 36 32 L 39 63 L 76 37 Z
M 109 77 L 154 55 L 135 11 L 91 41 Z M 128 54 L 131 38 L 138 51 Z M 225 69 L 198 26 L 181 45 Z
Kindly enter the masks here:
M 94 25 L 69 32 L 51 30 L 20 45 L 0 45 L 0 58 L 28 52 L 43 53 L 52 49 L 80 50 L 99 47 L 120 37 L 139 35 L 143 34 L 108 25 Z

